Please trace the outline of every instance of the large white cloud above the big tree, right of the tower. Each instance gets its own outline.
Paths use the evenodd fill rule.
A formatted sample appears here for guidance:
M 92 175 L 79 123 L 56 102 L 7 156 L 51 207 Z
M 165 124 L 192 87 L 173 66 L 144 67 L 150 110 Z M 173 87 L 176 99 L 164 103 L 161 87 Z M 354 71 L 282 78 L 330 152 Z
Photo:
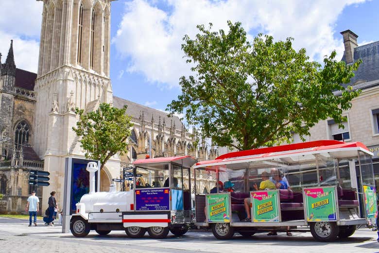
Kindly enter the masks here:
M 294 37 L 294 48 L 306 48 L 312 59 L 320 61 L 333 50 L 340 59 L 344 47 L 342 36 L 333 37 L 335 22 L 345 6 L 363 1 L 167 0 L 170 12 L 165 12 L 154 1 L 133 0 L 125 3 L 112 41 L 122 56 L 131 58 L 127 71 L 172 87 L 178 85 L 180 76 L 190 73 L 181 44 L 184 34 L 193 37 L 197 33 L 197 24 L 212 22 L 214 29 L 226 29 L 226 20 L 241 21 L 246 31 L 271 34 L 276 40 Z

